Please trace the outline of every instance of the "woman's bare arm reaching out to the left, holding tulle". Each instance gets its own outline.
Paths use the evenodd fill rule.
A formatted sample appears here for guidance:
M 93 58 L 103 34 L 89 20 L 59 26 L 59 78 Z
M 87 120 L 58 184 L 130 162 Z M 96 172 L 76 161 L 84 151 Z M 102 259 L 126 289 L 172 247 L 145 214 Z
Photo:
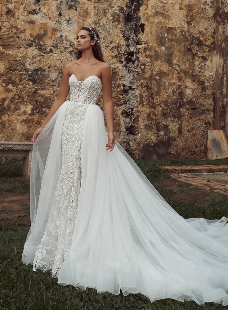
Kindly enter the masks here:
M 63 104 L 66 100 L 66 97 L 69 93 L 69 68 L 70 68 L 70 64 L 66 64 L 64 69 L 63 69 L 63 76 L 62 76 L 62 82 L 59 88 L 59 92 L 58 95 L 56 96 L 56 99 L 54 100 L 54 102 L 51 105 L 51 108 L 46 116 L 46 118 L 44 119 L 44 121 L 42 122 L 42 125 L 34 132 L 33 135 L 33 143 L 35 142 L 37 136 L 39 135 L 39 133 L 41 132 L 41 130 L 43 129 L 43 127 L 47 124 L 47 122 L 51 119 L 51 117 L 56 113 L 56 111 L 58 110 L 58 108 L 60 107 L 61 104 Z

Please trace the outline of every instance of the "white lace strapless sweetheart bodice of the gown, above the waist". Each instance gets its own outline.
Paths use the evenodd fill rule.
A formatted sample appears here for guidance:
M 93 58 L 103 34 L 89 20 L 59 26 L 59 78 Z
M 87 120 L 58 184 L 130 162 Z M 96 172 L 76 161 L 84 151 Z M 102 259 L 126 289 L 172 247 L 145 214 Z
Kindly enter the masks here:
M 91 75 L 85 81 L 78 81 L 72 74 L 69 77 L 70 102 L 80 105 L 96 104 L 101 92 L 102 82 L 96 75 Z

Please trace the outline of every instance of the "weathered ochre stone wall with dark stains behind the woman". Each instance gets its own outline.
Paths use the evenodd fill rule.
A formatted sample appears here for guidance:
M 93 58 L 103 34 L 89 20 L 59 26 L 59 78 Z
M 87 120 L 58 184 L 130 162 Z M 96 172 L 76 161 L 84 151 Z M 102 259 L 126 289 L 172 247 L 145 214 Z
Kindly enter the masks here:
M 205 158 L 207 129 L 227 132 L 225 0 L 3 0 L 0 8 L 0 140 L 31 141 L 76 59 L 81 26 L 100 33 L 115 137 L 132 157 Z

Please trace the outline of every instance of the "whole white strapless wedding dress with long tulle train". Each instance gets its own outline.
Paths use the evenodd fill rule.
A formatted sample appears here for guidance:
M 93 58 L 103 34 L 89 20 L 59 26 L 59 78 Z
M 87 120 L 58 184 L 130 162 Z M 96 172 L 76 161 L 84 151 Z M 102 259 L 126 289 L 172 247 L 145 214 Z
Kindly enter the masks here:
M 83 290 L 228 305 L 228 219 L 179 215 L 117 141 L 106 150 L 101 80 L 69 85 L 33 144 L 22 261 Z

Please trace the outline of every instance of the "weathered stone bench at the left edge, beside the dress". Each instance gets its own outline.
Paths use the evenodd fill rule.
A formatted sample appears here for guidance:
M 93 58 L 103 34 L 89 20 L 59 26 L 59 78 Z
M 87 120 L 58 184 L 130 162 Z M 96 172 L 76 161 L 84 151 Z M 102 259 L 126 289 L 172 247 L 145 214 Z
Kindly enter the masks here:
M 22 175 L 30 179 L 33 142 L 3 142 L 0 141 L 0 157 L 24 157 Z

